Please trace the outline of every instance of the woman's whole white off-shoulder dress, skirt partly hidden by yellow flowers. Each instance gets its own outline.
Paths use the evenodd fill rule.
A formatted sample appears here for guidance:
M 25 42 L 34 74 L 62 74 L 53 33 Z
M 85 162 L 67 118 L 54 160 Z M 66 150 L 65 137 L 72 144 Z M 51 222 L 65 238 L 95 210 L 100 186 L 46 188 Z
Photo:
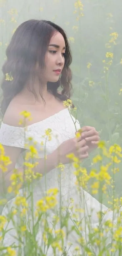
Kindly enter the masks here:
M 75 121 L 75 118 L 72 116 L 73 120 Z M 43 140 L 45 144 L 45 138 L 42 139 L 42 135 L 45 134 L 45 130 L 48 128 L 51 128 L 52 130 L 52 139 L 51 141 L 47 141 L 46 144 L 46 154 L 50 154 L 53 152 L 62 142 L 71 139 L 75 136 L 75 126 L 72 121 L 72 118 L 69 114 L 68 109 L 61 110 L 57 114 L 54 114 L 51 117 L 46 118 L 43 121 L 37 122 L 35 124 L 31 124 L 28 126 L 28 129 L 26 131 L 26 137 L 33 137 L 34 141 L 37 142 L 36 147 L 38 149 L 39 157 L 44 157 L 44 151 L 40 150 L 42 146 L 40 145 L 41 141 Z M 80 129 L 80 124 L 78 121 L 76 122 L 76 127 L 77 130 Z M 20 147 L 24 148 L 24 128 L 18 128 L 18 127 L 13 127 L 9 126 L 6 124 L 1 125 L 0 129 L 0 143 L 3 145 L 8 145 L 8 146 L 15 146 L 15 147 Z M 55 136 L 58 136 L 58 141 Z M 27 150 L 27 148 L 26 148 Z M 16 163 L 16 167 L 21 167 L 23 165 L 22 162 L 22 154 L 19 156 L 18 161 Z M 77 208 L 81 207 L 83 208 L 83 201 L 81 202 L 79 194 L 77 192 L 76 186 L 75 186 L 75 181 L 76 177 L 74 175 L 74 167 L 72 164 L 66 164 L 65 169 L 63 172 L 61 172 L 61 201 L 63 202 L 63 206 L 68 206 L 70 198 L 74 199 L 74 203 L 77 204 Z M 46 186 L 47 189 L 49 188 L 59 188 L 59 170 L 58 169 L 53 169 L 51 170 L 47 175 L 46 175 Z M 42 177 L 41 181 L 37 182 L 35 188 L 34 188 L 34 209 L 36 206 L 36 202 L 41 199 L 43 192 L 45 191 L 45 176 Z M 20 190 L 20 193 L 23 194 L 23 190 Z M 86 217 L 87 217 L 87 210 L 89 214 L 91 214 L 91 221 L 92 221 L 92 226 L 97 227 L 98 224 L 98 218 L 97 218 L 97 212 L 100 211 L 101 209 L 101 204 L 91 195 L 87 192 L 85 192 L 83 189 L 81 189 L 81 197 L 83 198 L 83 193 L 85 195 L 85 205 L 87 206 L 86 209 Z M 8 204 L 4 207 L 2 211 L 2 215 L 7 215 L 8 211 L 15 206 L 14 205 L 15 198 L 10 200 Z M 60 198 L 58 197 L 58 202 L 60 206 Z M 91 208 L 94 210 L 91 213 Z M 102 211 L 107 211 L 107 207 L 102 205 Z M 81 215 L 81 214 L 80 214 Z M 108 211 L 106 215 L 104 216 L 104 219 L 112 219 L 113 212 Z M 82 213 L 82 216 L 84 214 Z M 16 216 L 15 222 L 17 223 Z M 51 222 L 51 216 L 49 219 L 49 222 Z M 83 221 L 84 223 L 84 221 Z M 51 225 L 51 223 L 50 223 Z M 73 225 L 71 221 L 68 223 L 69 228 Z M 9 223 L 8 228 L 10 229 L 13 228 L 12 222 Z M 59 228 L 59 227 L 58 227 Z M 88 236 L 88 228 L 86 228 L 87 231 L 87 236 Z M 12 243 L 17 244 L 17 240 L 13 238 L 11 235 L 15 236 L 15 230 L 12 229 L 5 235 L 5 240 L 4 240 L 4 245 L 5 246 L 10 246 Z M 38 244 L 41 245 L 41 235 L 42 235 L 42 230 L 40 228 L 40 232 L 37 235 L 37 240 Z M 85 233 L 83 231 L 83 236 L 85 238 Z M 73 253 L 74 247 L 77 245 L 75 243 L 76 239 L 76 233 L 72 233 L 72 235 L 69 236 L 68 242 L 73 243 L 71 246 L 70 250 L 68 251 L 67 255 L 75 255 Z M 108 239 L 109 241 L 109 239 Z M 68 246 L 68 242 L 66 241 L 66 246 Z M 97 249 L 96 249 L 97 253 Z M 53 255 L 51 248 L 48 250 L 47 255 Z M 60 255 L 59 253 L 57 255 Z M 98 254 L 96 254 L 98 255 Z

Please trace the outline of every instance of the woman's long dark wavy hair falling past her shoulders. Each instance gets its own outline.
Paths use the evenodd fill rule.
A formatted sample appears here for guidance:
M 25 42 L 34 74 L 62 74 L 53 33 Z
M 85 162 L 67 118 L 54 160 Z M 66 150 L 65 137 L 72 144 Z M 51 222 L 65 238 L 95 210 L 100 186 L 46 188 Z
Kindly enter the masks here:
M 3 80 L 2 88 L 2 115 L 13 99 L 24 88 L 30 76 L 34 81 L 38 75 L 40 81 L 40 72 L 35 71 L 36 63 L 39 63 L 39 68 L 45 68 L 45 54 L 52 35 L 55 32 L 60 32 L 64 37 L 66 51 L 64 55 L 65 63 L 61 73 L 61 78 L 57 82 L 48 82 L 47 90 L 60 100 L 66 100 L 71 97 L 71 69 L 72 62 L 71 49 L 64 30 L 55 23 L 48 20 L 27 20 L 22 23 L 12 36 L 12 39 L 6 49 L 7 59 L 2 66 Z M 6 74 L 11 74 L 13 80 L 7 81 Z M 58 93 L 58 88 L 61 86 L 61 94 Z M 37 98 L 36 92 L 33 89 L 28 89 Z M 41 95 L 41 94 L 40 94 Z M 41 95 L 42 97 L 42 95 Z M 43 99 L 43 97 L 42 97 Z

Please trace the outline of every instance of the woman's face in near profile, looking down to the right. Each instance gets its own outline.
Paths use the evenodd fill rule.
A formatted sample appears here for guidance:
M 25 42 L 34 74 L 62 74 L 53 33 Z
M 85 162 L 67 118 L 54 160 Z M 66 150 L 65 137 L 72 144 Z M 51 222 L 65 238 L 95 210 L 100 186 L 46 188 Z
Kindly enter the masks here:
M 64 67 L 65 41 L 61 33 L 55 33 L 50 40 L 45 55 L 45 79 L 57 82 Z M 57 70 L 57 71 L 55 71 Z

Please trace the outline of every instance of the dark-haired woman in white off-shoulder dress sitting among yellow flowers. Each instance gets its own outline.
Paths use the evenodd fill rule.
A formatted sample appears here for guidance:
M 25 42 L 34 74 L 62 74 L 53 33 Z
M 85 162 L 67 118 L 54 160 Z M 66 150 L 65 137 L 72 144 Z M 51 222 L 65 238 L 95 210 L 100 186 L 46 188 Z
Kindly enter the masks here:
M 56 168 L 59 163 L 64 164 L 60 184 L 63 205 L 68 205 L 71 197 L 78 204 L 80 199 L 74 185 L 74 167 L 66 155 L 74 153 L 80 159 L 87 158 L 89 152 L 97 146 L 99 135 L 95 128 L 86 126 L 82 128 L 84 134 L 76 138 L 73 123 L 75 119 L 63 105 L 63 101 L 70 98 L 72 88 L 70 70 L 72 58 L 67 36 L 61 27 L 50 21 L 28 20 L 15 31 L 7 47 L 6 56 L 7 60 L 2 68 L 3 120 L 0 129 L 0 142 L 4 145 L 5 154 L 12 161 L 8 166 L 6 182 L 9 184 L 11 171 L 15 167 L 18 171 L 23 171 L 23 156 L 28 151 L 28 146 L 25 145 L 23 124 L 19 124 L 19 113 L 26 110 L 31 113 L 32 120 L 26 119 L 25 134 L 27 138 L 32 137 L 36 141 L 39 155 L 39 164 L 34 171 L 43 175 L 34 188 L 34 209 L 45 192 L 45 186 L 46 190 L 59 187 L 59 170 Z M 60 85 L 61 93 L 58 92 Z M 78 121 L 75 125 L 77 130 L 81 128 Z M 43 146 L 42 136 L 48 128 L 52 131 L 52 139 L 46 142 L 45 160 L 45 137 L 43 137 Z M 20 193 L 23 193 L 22 190 Z M 101 204 L 88 193 L 84 193 L 88 209 L 91 209 L 91 201 L 92 206 L 95 207 L 92 220 L 97 224 L 96 212 L 100 210 Z M 14 202 L 15 198 L 9 201 L 9 211 L 14 206 Z M 107 207 L 103 207 L 107 210 Z M 7 212 L 6 206 L 2 214 L 7 215 Z M 11 222 L 9 228 L 13 228 Z M 5 235 L 5 246 L 18 244 L 13 234 L 15 236 L 14 229 Z M 41 230 L 37 240 L 39 244 Z M 72 240 L 71 236 L 69 241 Z M 66 243 L 66 247 L 67 245 Z M 73 240 L 73 246 L 68 251 L 69 255 L 72 255 L 74 247 Z M 48 249 L 48 255 L 52 255 L 51 247 Z

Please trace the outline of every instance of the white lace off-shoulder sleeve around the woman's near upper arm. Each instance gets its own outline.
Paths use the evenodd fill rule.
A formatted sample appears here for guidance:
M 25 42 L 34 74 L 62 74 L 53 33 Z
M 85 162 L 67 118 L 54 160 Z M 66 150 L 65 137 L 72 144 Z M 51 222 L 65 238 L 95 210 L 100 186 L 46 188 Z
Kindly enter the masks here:
M 0 143 L 4 146 L 25 148 L 24 128 L 11 126 L 2 122 Z

